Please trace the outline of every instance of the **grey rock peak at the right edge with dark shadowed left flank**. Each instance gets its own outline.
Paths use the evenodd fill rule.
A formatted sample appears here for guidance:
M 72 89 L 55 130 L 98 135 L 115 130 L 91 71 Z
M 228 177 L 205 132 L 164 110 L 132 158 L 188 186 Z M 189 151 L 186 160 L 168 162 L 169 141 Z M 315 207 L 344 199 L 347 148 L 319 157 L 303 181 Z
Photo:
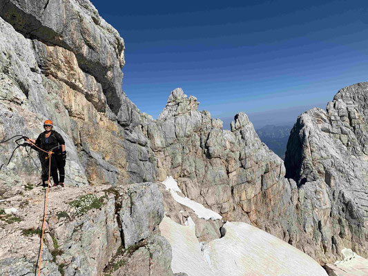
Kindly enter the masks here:
M 298 185 L 298 217 L 326 256 L 368 252 L 368 83 L 344 88 L 298 117 L 287 145 L 287 177 Z

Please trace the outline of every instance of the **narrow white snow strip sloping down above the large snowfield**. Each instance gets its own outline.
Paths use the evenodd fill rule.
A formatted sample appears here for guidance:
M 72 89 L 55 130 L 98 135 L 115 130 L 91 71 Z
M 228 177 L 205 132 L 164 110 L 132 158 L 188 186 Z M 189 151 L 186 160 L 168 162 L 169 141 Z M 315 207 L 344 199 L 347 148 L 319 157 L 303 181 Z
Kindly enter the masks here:
M 163 181 L 162 184 L 165 185 L 166 190 L 171 193 L 171 196 L 173 197 L 173 199 L 175 199 L 175 201 L 191 208 L 194 211 L 195 215 L 197 215 L 197 217 L 212 220 L 222 219 L 221 215 L 213 212 L 213 210 L 205 208 L 202 204 L 188 199 L 188 197 L 181 197 L 180 195 L 178 195 L 177 193 L 182 193 L 182 191 L 177 186 L 177 181 L 173 179 L 173 177 L 166 177 L 166 180 Z

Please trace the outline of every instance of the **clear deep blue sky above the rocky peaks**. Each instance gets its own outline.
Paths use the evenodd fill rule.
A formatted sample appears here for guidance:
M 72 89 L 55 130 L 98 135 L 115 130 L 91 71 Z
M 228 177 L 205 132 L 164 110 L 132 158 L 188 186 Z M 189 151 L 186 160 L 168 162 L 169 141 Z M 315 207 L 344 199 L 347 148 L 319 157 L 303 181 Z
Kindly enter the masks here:
M 157 118 L 181 87 L 200 110 L 295 122 L 368 80 L 366 1 L 92 1 L 126 45 L 123 90 Z

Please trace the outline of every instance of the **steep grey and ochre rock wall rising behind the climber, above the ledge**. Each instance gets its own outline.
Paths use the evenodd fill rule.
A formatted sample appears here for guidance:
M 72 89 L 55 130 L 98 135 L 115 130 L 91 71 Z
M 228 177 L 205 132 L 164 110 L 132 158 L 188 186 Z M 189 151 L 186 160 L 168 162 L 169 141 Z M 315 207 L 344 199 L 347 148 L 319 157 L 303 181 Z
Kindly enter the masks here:
M 51 119 L 66 139 L 68 185 L 153 181 L 139 110 L 122 91 L 124 41 L 93 5 L 0 1 L 0 17 L 0 139 L 35 139 Z M 1 164 L 15 146 L 1 145 Z M 36 183 L 37 167 L 37 152 L 20 148 L 1 184 Z

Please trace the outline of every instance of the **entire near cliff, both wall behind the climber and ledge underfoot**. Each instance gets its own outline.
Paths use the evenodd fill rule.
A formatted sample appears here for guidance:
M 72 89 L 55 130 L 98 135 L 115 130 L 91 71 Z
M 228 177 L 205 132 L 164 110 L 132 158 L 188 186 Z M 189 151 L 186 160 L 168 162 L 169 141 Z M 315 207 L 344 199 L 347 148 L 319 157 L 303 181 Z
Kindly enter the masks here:
M 154 180 L 155 167 L 123 66 L 124 41 L 89 1 L 0 1 L 0 141 L 36 138 L 51 119 L 68 151 L 68 188 L 50 193 L 42 275 L 173 275 L 157 227 L 162 194 L 129 186 Z M 8 164 L 16 146 L 0 146 L 0 274 L 34 275 L 45 195 L 35 150 L 17 149 Z

